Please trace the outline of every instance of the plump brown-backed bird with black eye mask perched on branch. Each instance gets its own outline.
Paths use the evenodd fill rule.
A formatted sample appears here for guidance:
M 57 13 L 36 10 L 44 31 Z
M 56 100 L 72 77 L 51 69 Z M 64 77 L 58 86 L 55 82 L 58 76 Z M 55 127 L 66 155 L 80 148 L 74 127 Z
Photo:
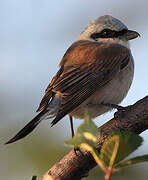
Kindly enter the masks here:
M 120 104 L 134 76 L 129 40 L 138 36 L 110 15 L 91 21 L 60 61 L 37 116 L 5 144 L 24 138 L 43 120 L 52 119 L 54 126 L 66 115 L 74 136 L 73 118 L 83 119 L 88 110 L 93 119 L 113 109 L 107 104 Z

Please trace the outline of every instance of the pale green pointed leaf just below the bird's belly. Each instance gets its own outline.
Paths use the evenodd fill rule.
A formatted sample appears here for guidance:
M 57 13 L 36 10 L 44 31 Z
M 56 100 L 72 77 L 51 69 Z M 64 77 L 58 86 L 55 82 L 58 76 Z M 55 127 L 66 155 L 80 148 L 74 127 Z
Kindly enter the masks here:
M 75 136 L 66 141 L 65 143 L 68 145 L 72 145 L 75 148 L 84 147 L 87 148 L 89 146 L 96 147 L 97 146 L 97 136 L 98 136 L 98 128 L 90 119 L 90 115 L 88 111 L 85 113 L 84 122 L 78 127 Z

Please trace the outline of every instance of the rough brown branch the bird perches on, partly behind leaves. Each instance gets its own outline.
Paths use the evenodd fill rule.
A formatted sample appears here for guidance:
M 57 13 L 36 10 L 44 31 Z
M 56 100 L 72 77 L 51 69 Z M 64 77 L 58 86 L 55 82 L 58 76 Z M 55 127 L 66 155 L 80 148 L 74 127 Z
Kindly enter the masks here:
M 140 134 L 148 129 L 148 96 L 119 110 L 114 118 L 99 128 L 98 151 L 107 138 L 114 131 L 130 131 Z M 80 180 L 88 176 L 88 172 L 96 166 L 96 163 L 88 151 L 81 149 L 71 150 L 59 162 L 48 170 L 41 180 Z

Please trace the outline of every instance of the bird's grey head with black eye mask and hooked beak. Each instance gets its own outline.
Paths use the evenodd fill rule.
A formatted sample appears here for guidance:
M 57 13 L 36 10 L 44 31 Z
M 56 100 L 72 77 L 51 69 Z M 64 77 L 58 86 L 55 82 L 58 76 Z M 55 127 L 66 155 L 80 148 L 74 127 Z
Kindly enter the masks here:
M 120 20 L 105 15 L 89 23 L 78 40 L 119 43 L 129 47 L 128 41 L 138 36 L 138 32 L 129 30 Z

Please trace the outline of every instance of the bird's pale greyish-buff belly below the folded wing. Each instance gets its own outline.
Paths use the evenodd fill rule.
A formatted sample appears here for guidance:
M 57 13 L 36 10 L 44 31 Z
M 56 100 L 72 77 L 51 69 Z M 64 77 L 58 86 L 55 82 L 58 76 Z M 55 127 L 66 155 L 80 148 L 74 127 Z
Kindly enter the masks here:
M 86 109 L 92 118 L 95 118 L 109 110 L 110 107 L 102 105 L 102 103 L 119 104 L 127 95 L 131 86 L 134 74 L 133 61 L 122 69 L 116 76 L 104 87 L 99 88 L 93 95 L 85 100 L 79 107 L 74 109 L 70 115 L 76 118 L 84 118 Z

